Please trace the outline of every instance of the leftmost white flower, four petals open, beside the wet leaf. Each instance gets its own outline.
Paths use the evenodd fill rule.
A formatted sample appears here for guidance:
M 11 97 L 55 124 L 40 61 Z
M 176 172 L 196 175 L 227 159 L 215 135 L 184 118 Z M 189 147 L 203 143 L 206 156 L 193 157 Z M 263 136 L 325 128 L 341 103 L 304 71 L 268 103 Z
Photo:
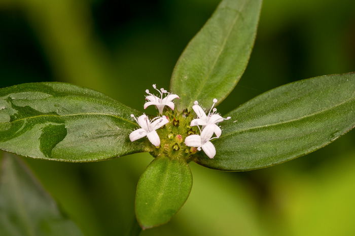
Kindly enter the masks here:
M 138 119 L 135 119 L 133 114 L 131 114 L 131 117 L 133 117 L 134 120 L 141 127 L 140 129 L 134 130 L 132 131 L 132 133 L 129 134 L 129 139 L 131 140 L 131 142 L 147 136 L 149 141 L 154 146 L 159 146 L 160 139 L 156 130 L 162 127 L 163 125 L 169 123 L 168 119 L 166 119 L 166 116 L 163 115 L 162 117 L 155 117 L 154 119 L 152 119 L 152 121 L 149 121 L 148 116 L 146 114 L 139 116 Z

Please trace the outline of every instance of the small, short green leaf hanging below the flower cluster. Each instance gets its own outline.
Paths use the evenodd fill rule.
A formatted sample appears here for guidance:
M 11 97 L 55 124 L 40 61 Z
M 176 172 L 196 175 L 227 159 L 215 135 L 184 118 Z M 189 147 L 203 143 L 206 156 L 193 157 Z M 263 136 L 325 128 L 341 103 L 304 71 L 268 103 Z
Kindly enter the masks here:
M 135 214 L 143 229 L 164 224 L 186 202 L 192 174 L 185 160 L 160 156 L 140 176 L 135 195 Z

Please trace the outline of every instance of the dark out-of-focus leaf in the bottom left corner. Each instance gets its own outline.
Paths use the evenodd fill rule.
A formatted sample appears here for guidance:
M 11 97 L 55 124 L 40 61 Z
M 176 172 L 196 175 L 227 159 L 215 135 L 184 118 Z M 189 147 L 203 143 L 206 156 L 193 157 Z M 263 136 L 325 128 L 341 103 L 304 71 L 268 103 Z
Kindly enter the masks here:
M 33 176 L 23 161 L 6 153 L 0 181 L 3 236 L 83 235 Z

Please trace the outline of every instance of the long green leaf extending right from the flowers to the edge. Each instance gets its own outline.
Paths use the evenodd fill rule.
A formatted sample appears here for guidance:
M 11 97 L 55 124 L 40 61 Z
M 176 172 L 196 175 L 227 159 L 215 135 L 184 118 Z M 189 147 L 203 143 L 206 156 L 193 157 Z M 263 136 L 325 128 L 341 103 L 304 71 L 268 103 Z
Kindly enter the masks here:
M 355 73 L 325 75 L 270 90 L 233 110 L 217 154 L 197 158 L 218 170 L 245 171 L 287 162 L 333 142 L 355 126 Z M 226 115 L 226 116 L 227 116 Z

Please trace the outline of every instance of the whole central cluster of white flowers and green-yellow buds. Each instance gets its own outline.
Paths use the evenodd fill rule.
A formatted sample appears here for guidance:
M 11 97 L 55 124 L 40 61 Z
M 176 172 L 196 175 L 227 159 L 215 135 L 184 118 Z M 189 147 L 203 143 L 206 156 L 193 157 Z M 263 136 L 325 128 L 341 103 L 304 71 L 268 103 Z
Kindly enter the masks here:
M 159 92 L 160 96 L 151 94 L 147 89 L 146 93 L 148 95 L 146 96 L 146 100 L 148 101 L 144 104 L 144 108 L 146 109 L 150 105 L 155 105 L 155 107 L 159 110 L 159 114 L 162 114 L 164 107 L 168 106 L 173 111 L 175 104 L 172 100 L 175 98 L 180 99 L 180 97 L 176 94 L 167 92 L 163 88 L 158 90 L 156 85 L 153 85 L 153 88 Z M 196 153 L 197 150 L 200 151 L 202 149 L 206 155 L 212 159 L 216 155 L 216 148 L 210 141 L 212 139 L 219 138 L 222 134 L 222 130 L 218 126 L 218 123 L 231 118 L 223 118 L 219 113 L 217 113 L 217 109 L 215 108 L 216 103 L 217 99 L 215 98 L 213 100 L 212 107 L 206 114 L 205 111 L 199 106 L 198 102 L 195 101 L 192 106 L 192 109 L 197 114 L 197 118 L 195 119 L 193 119 L 193 116 L 190 116 L 190 112 L 188 112 L 187 109 L 185 109 L 181 114 L 179 112 L 176 113 L 166 111 L 166 115 L 157 116 L 152 120 L 149 120 L 146 114 L 140 115 L 138 118 L 131 114 L 131 117 L 138 123 L 140 128 L 132 131 L 129 135 L 129 139 L 133 142 L 147 136 L 148 140 L 156 146 L 156 149 L 152 150 L 157 151 L 154 152 L 154 155 L 157 156 L 161 154 L 168 156 L 180 155 L 185 156 L 186 158 L 187 156 Z M 171 121 L 171 124 L 167 125 L 169 121 Z M 161 149 L 160 137 L 157 130 L 164 125 L 167 125 L 167 127 L 158 132 L 163 140 L 163 149 Z M 198 132 L 198 130 L 194 128 L 196 126 L 200 131 L 199 135 L 196 134 L 196 132 Z M 176 139 L 173 141 L 172 137 L 175 137 L 175 139 L 178 138 L 178 140 Z M 185 142 L 182 143 L 184 137 Z M 191 148 L 186 148 L 186 146 Z

